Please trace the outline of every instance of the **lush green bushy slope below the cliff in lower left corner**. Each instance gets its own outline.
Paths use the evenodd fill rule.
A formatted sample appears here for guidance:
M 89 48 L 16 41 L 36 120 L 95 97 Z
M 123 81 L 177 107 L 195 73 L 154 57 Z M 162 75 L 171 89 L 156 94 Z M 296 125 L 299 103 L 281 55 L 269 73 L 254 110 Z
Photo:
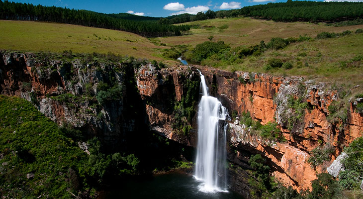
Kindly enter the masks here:
M 30 102 L 0 96 L 0 126 L 2 197 L 72 198 L 69 191 L 89 189 L 87 154 Z

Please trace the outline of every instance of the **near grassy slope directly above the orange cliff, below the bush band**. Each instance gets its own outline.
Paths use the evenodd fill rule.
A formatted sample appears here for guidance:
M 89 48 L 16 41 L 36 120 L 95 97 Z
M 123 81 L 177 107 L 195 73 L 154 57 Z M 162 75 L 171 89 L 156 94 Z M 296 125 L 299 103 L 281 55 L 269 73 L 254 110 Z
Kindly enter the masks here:
M 363 55 L 363 34 L 345 37 L 305 41 L 290 44 L 281 50 L 268 50 L 258 57 L 248 57 L 244 63 L 235 66 L 221 66 L 224 69 L 266 72 L 264 66 L 271 58 L 278 58 L 293 65 L 292 69 L 273 69 L 273 75 L 302 75 L 307 79 L 322 82 L 349 83 L 352 86 L 362 84 L 363 71 L 357 66 L 342 66 L 342 62 Z M 301 56 L 303 55 L 303 56 Z M 360 65 L 359 65 L 360 64 Z

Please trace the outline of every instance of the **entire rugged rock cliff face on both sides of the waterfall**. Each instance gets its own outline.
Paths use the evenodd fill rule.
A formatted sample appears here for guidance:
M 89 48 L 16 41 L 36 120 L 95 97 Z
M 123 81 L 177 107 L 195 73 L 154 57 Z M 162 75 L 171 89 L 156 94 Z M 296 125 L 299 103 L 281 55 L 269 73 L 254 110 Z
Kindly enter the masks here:
M 326 172 L 331 164 L 314 170 L 307 163 L 312 149 L 320 144 L 334 146 L 333 161 L 344 146 L 362 136 L 363 115 L 355 112 L 359 99 L 349 103 L 344 121 L 331 123 L 328 107 L 339 100 L 339 93 L 323 83 L 199 66 L 160 70 L 150 64 L 133 65 L 69 62 L 31 53 L 0 52 L 0 94 L 32 101 L 58 124 L 76 127 L 90 137 L 96 135 L 109 146 L 128 147 L 124 140 L 130 139 L 130 134 L 137 140 L 146 129 L 195 146 L 195 114 L 188 119 L 179 117 L 174 106 L 189 95 L 187 82 L 200 81 L 198 68 L 210 94 L 230 113 L 249 111 L 252 119 L 261 124 L 276 122 L 287 140 L 264 140 L 238 120 L 229 124 L 228 159 L 234 165 L 229 184 L 246 198 L 250 198 L 250 187 L 245 170 L 251 169 L 251 154 L 263 155 L 275 179 L 300 191 L 309 189 L 316 173 Z M 300 108 L 299 103 L 305 105 Z M 177 120 L 192 128 L 183 132 L 174 125 Z M 87 151 L 84 144 L 80 143 L 80 147 Z

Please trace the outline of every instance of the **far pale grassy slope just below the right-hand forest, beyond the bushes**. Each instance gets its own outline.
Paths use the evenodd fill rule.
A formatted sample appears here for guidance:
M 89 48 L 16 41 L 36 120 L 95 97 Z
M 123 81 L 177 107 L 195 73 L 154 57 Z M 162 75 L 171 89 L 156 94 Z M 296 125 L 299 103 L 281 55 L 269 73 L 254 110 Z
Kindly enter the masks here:
M 232 47 L 239 45 L 257 44 L 261 40 L 270 41 L 272 37 L 298 37 L 307 35 L 315 37 L 320 32 L 342 32 L 356 30 L 363 25 L 333 27 L 325 23 L 308 22 L 273 22 L 251 18 L 223 18 L 203 21 L 193 21 L 184 24 L 191 25 L 190 34 L 178 37 L 161 37 L 159 40 L 167 45 L 190 44 L 196 45 L 207 41 L 207 37 L 214 36 L 215 40 L 222 40 Z

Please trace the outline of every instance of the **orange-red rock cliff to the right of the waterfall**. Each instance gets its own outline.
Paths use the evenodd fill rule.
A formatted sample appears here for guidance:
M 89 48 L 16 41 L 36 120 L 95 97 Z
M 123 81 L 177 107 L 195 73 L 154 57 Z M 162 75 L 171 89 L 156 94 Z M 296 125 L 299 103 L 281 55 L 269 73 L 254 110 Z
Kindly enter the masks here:
M 363 134 L 363 115 L 355 111 L 353 101 L 349 102 L 345 122 L 328 121 L 328 107 L 333 101 L 339 100 L 339 93 L 324 83 L 305 81 L 301 77 L 273 77 L 199 68 L 209 88 L 214 88 L 214 95 L 230 113 L 236 111 L 237 115 L 241 115 L 249 111 L 251 117 L 261 124 L 279 124 L 287 140 L 284 143 L 250 135 L 248 127 L 232 123 L 229 124 L 230 142 L 238 150 L 237 156 L 243 156 L 244 153 L 264 155 L 269 160 L 272 174 L 285 186 L 297 190 L 311 188 L 311 181 L 316 179 L 316 174 L 326 172 L 331 164 L 326 163 L 314 170 L 307 163 L 312 149 L 321 144 L 334 146 L 336 153 L 332 157 L 333 161 L 344 146 Z M 305 103 L 304 108 L 294 107 L 299 103 Z

